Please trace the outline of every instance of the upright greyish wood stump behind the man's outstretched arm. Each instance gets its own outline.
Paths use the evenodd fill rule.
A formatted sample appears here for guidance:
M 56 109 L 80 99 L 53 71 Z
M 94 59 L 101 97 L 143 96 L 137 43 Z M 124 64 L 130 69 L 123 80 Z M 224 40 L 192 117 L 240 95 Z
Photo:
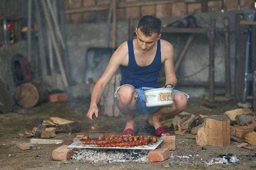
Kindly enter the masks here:
M 89 80 L 90 93 L 92 93 L 92 89 L 97 80 L 98 79 L 90 79 Z M 99 111 L 99 112 L 103 113 L 103 115 L 108 115 L 111 117 L 118 117 L 121 115 L 121 112 L 116 107 L 116 103 L 114 100 L 114 93 L 116 91 L 116 88 L 120 86 L 120 81 L 121 81 L 121 74 L 116 73 L 116 74 L 114 74 L 112 79 L 109 81 L 108 85 L 105 87 L 102 97 L 99 100 L 99 105 L 101 107 L 101 111 Z

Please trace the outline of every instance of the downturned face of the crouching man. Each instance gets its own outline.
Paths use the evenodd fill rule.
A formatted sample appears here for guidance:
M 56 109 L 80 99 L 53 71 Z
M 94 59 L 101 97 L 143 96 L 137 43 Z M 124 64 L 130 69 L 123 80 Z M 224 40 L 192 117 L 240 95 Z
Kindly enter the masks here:
M 136 34 L 137 34 L 137 43 L 140 47 L 140 51 L 142 53 L 146 53 L 149 50 L 151 50 L 151 48 L 153 48 L 154 44 L 157 42 L 157 40 L 160 39 L 161 34 L 157 35 L 157 33 L 153 33 L 151 34 L 151 36 L 146 37 L 141 31 L 140 28 L 137 29 L 136 28 Z

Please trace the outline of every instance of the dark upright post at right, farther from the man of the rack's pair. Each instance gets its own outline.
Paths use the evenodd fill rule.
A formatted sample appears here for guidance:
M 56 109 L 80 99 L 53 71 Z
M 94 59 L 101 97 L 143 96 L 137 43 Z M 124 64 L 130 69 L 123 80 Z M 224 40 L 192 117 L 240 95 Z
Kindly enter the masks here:
M 231 78 L 230 78 L 230 28 L 229 17 L 224 17 L 225 26 L 225 82 L 226 82 L 226 96 L 231 96 Z

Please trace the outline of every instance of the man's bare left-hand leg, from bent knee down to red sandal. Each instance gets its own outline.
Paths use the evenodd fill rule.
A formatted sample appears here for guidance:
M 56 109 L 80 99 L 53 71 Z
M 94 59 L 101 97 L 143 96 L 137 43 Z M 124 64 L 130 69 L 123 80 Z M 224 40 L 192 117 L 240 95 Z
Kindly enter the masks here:
M 127 119 L 127 123 L 125 126 L 125 131 L 123 136 L 131 136 L 125 135 L 126 133 L 130 133 L 134 130 L 134 122 L 135 122 L 135 110 L 137 108 L 136 101 L 137 93 L 135 89 L 131 85 L 123 85 L 116 94 L 116 102 L 119 110 L 124 114 Z M 132 130 L 131 130 L 132 129 Z

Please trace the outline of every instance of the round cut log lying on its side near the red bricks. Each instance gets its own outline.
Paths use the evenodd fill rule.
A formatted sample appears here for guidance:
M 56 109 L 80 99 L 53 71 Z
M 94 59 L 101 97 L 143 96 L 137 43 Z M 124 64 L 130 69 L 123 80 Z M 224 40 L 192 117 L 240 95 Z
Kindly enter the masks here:
M 47 99 L 47 86 L 39 80 L 23 83 L 15 90 L 15 100 L 24 108 L 31 108 Z

